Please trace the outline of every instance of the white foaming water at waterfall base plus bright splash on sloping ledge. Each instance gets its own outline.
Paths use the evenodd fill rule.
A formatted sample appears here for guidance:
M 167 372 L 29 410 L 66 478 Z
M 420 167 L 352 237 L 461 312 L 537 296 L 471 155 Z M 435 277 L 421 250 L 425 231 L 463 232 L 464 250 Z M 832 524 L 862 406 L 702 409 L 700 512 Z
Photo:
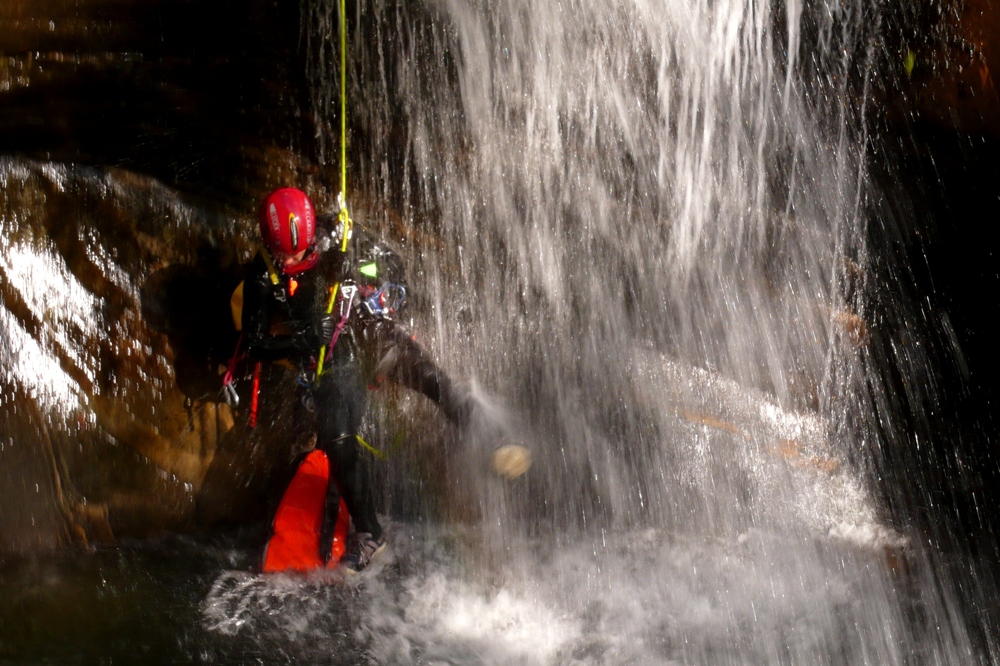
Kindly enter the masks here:
M 206 628 L 264 653 L 333 663 L 960 663 L 961 627 L 928 639 L 913 621 L 914 608 L 940 600 L 909 589 L 897 567 L 907 566 L 910 544 L 827 457 L 834 451 L 817 417 L 653 361 L 646 366 L 663 370 L 647 372 L 642 390 L 685 387 L 658 412 L 687 444 L 673 459 L 679 481 L 647 485 L 642 501 L 670 525 L 663 505 L 679 486 L 731 492 L 740 478 L 749 490 L 733 506 L 720 498 L 670 529 L 526 537 L 508 525 L 500 549 L 487 524 L 389 522 L 390 549 L 358 578 L 223 574 L 203 607 Z M 706 417 L 709 405 L 726 411 Z M 734 465 L 738 473 L 726 469 Z M 498 496 L 510 501 L 487 493 Z M 740 511 L 780 529 L 726 530 L 727 514 Z M 878 625 L 861 624 L 871 621 Z

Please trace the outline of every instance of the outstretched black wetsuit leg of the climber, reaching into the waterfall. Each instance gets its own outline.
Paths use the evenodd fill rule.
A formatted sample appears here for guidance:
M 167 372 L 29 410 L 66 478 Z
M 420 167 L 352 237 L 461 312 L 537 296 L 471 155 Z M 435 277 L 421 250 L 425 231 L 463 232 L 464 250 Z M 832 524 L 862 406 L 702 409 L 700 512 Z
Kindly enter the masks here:
M 379 328 L 376 375 L 423 393 L 452 423 L 467 425 L 472 410 L 468 394 L 459 390 L 427 352 L 392 321 L 379 322 Z

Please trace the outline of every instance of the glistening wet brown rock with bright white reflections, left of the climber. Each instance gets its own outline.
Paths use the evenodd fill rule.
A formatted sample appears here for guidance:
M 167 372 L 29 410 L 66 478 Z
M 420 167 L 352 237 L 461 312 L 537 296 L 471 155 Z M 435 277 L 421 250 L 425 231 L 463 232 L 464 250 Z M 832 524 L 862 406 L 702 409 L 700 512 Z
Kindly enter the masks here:
M 175 368 L 234 342 L 228 312 L 213 308 L 232 282 L 235 229 L 150 178 L 0 160 L 0 468 L 11 477 L 0 550 L 191 519 L 234 416 L 212 395 L 189 401 Z M 200 346 L 179 337 L 190 318 L 172 316 L 156 279 L 172 265 L 214 272 L 198 289 L 169 281 L 201 315 Z

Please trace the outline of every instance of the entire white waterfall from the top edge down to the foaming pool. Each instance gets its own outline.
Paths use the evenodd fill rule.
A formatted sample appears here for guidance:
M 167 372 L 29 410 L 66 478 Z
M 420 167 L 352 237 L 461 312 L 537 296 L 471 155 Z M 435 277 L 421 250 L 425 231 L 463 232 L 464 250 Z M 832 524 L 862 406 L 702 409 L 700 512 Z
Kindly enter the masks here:
M 313 111 L 337 127 L 337 4 L 304 10 Z M 399 215 L 422 232 L 409 243 L 429 298 L 418 330 L 502 396 L 534 449 L 529 478 L 471 491 L 493 563 L 478 575 L 529 604 L 532 619 L 512 625 L 558 634 L 527 653 L 990 658 L 940 558 L 877 482 L 886 450 L 926 434 L 893 411 L 889 377 L 934 390 L 919 340 L 883 357 L 866 324 L 917 309 L 886 296 L 905 289 L 876 279 L 891 271 L 871 246 L 865 113 L 882 11 L 348 10 L 356 205 L 374 226 Z M 337 133 L 316 139 L 336 165 Z M 410 610 L 489 623 L 468 581 L 411 584 Z M 500 603 L 484 595 L 475 603 Z

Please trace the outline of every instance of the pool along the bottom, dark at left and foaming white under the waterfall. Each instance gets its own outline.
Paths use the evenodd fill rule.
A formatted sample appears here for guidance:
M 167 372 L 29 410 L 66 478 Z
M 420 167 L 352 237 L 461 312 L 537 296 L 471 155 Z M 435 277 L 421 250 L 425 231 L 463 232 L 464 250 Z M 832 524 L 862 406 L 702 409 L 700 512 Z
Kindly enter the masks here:
M 648 529 L 519 540 L 505 561 L 473 530 L 388 533 L 373 571 L 348 579 L 258 574 L 247 532 L 7 561 L 0 660 L 990 663 L 978 623 L 946 623 L 971 611 L 988 626 L 986 600 L 959 608 L 905 550 Z

